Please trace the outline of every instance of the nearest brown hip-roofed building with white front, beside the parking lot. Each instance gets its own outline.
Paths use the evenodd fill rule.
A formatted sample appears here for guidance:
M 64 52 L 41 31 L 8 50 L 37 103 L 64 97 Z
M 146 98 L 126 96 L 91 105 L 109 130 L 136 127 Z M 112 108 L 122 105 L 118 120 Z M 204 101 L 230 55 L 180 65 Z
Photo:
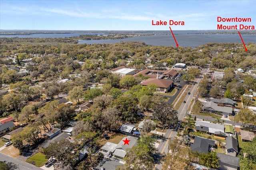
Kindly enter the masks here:
M 149 84 L 156 84 L 159 87 L 157 89 L 159 92 L 167 93 L 172 88 L 173 81 L 158 78 L 148 78 L 147 80 L 141 83 L 142 86 L 148 86 Z

